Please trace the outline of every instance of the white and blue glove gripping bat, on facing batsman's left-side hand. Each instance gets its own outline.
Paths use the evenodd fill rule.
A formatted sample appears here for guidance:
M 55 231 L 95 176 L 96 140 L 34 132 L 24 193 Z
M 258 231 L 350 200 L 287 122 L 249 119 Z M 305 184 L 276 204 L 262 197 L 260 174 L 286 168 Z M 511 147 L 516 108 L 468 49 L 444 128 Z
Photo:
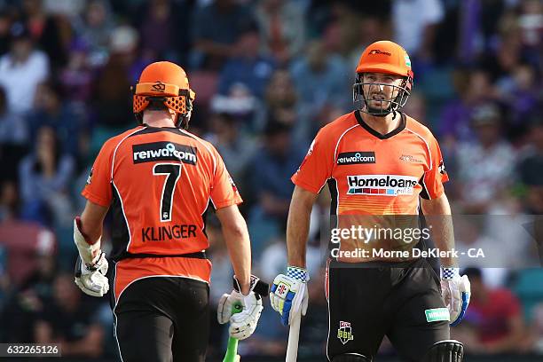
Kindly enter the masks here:
M 295 266 L 287 267 L 287 275 L 279 274 L 273 279 L 270 289 L 271 308 L 279 311 L 284 326 L 289 326 L 298 313 L 305 315 L 309 302 L 308 280 L 307 270 Z

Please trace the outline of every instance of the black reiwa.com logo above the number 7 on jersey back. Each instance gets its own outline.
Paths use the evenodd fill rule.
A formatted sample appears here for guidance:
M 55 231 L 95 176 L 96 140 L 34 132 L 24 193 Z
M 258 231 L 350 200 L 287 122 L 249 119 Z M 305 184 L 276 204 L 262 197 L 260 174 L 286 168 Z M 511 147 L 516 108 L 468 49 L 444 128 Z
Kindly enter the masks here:
M 132 146 L 134 163 L 181 161 L 195 165 L 197 161 L 196 152 L 196 147 L 179 145 L 174 142 L 153 142 Z

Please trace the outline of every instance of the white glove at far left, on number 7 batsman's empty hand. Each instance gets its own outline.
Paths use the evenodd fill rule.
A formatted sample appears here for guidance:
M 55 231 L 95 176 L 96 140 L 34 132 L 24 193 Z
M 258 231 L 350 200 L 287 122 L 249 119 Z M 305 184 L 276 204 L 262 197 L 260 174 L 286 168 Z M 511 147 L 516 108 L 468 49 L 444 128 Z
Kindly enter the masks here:
M 81 257 L 75 263 L 75 284 L 86 295 L 104 296 L 109 290 L 106 254 L 101 253 L 95 264 L 84 264 Z

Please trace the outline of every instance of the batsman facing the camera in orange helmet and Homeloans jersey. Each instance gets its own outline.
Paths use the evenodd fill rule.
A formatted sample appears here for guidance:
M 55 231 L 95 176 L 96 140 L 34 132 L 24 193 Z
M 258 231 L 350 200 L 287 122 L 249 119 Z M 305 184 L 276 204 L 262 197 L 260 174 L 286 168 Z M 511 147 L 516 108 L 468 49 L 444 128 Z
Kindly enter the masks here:
M 307 310 L 305 246 L 312 205 L 325 184 L 336 225 L 363 216 L 382 224 L 385 216 L 413 216 L 418 224 L 421 208 L 437 248 L 453 250 L 443 187 L 448 176 L 437 140 L 401 112 L 413 88 L 411 60 L 397 43 L 380 41 L 362 53 L 356 72 L 357 110 L 319 130 L 292 177 L 287 273 L 274 279 L 270 295 L 284 325 Z M 382 245 L 406 251 L 416 244 L 388 242 Z M 372 241 L 341 240 L 327 261 L 328 360 L 371 361 L 386 334 L 403 360 L 461 361 L 463 347 L 450 340 L 449 325 L 463 318 L 469 282 L 460 277 L 453 254 L 441 257 L 439 278 L 426 259 L 412 254 L 402 259 L 343 253 L 360 245 L 368 248 Z

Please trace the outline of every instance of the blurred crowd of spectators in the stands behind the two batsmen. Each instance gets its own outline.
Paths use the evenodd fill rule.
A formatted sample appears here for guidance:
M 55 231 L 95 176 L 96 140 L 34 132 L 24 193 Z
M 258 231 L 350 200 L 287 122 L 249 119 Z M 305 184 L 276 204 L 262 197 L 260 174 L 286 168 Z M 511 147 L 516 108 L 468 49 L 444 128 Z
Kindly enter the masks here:
M 440 142 L 453 212 L 486 218 L 460 242 L 492 247 L 484 229 L 507 234 L 492 216 L 520 223 L 543 214 L 539 0 L 0 0 L 0 342 L 63 342 L 65 356 L 115 357 L 106 298 L 73 283 L 71 227 L 99 148 L 136 125 L 130 86 L 147 64 L 166 59 L 187 71 L 190 130 L 223 155 L 245 201 L 255 272 L 271 281 L 287 263 L 289 178 L 317 130 L 352 111 L 358 57 L 382 39 L 411 56 L 404 111 Z M 326 213 L 322 195 L 301 356 L 324 355 L 317 221 Z M 232 271 L 212 216 L 208 230 L 215 304 Z M 541 258 L 543 247 L 521 233 L 508 234 L 502 255 L 515 244 Z M 106 222 L 106 246 L 108 235 Z M 472 303 L 453 335 L 468 352 L 543 354 L 542 271 L 466 273 Z M 283 355 L 287 328 L 275 314 L 264 309 L 241 354 Z M 210 323 L 212 360 L 225 333 Z M 382 353 L 393 353 L 386 342 Z

